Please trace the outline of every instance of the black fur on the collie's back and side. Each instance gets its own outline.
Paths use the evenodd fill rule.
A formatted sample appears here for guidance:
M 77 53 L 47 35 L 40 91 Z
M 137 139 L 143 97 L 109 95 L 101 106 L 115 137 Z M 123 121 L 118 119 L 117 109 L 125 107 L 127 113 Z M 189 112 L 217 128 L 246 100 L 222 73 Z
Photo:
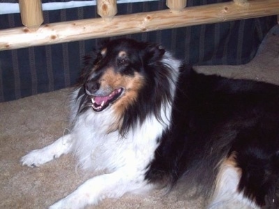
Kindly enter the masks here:
M 242 170 L 239 192 L 259 206 L 279 206 L 278 86 L 202 75 L 185 67 L 172 121 L 146 179 L 167 178 L 174 184 L 195 177 L 211 188 L 220 161 L 235 153 Z

